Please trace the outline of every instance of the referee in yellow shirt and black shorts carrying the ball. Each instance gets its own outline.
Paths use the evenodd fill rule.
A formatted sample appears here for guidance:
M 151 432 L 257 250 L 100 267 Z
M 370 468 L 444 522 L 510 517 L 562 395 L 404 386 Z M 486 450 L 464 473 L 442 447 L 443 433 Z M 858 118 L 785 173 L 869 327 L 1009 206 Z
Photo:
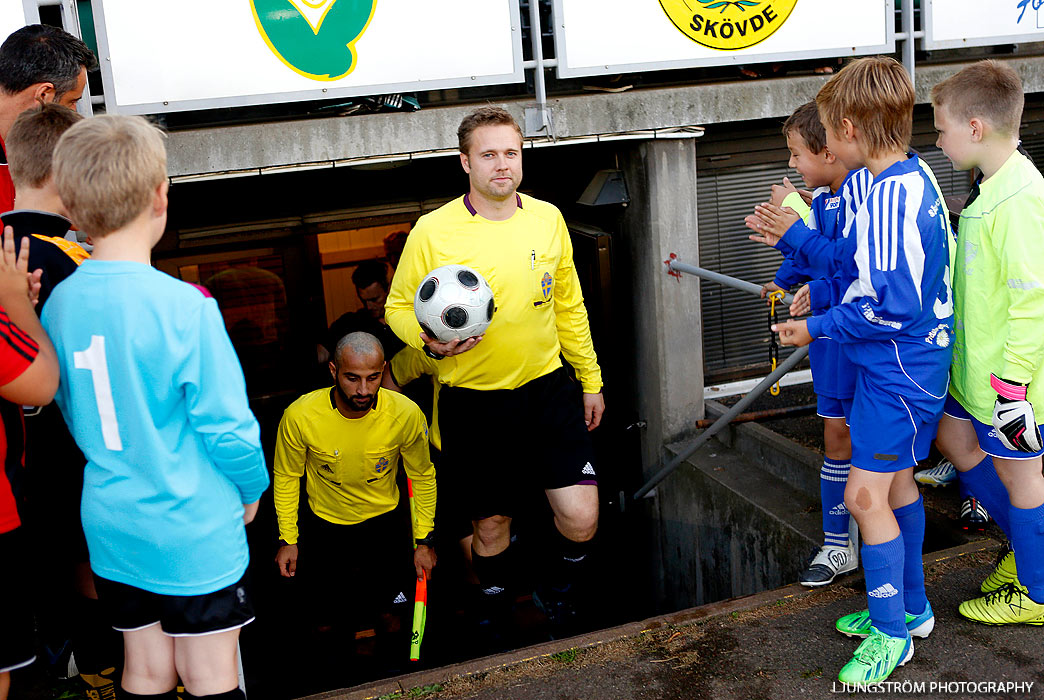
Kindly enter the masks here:
M 536 600 L 552 625 L 568 630 L 598 527 L 588 430 L 604 410 L 601 371 L 562 213 L 517 191 L 519 125 L 506 111 L 485 107 L 464 119 L 457 137 L 469 192 L 422 216 L 410 232 L 385 319 L 405 343 L 436 360 L 444 384 L 442 492 L 461 499 L 472 518 L 483 598 L 494 610 L 505 607 L 512 516 L 520 493 L 537 486 L 554 511 L 555 546 Z M 451 263 L 481 273 L 497 312 L 484 335 L 440 343 L 422 332 L 413 294 L 428 272 Z

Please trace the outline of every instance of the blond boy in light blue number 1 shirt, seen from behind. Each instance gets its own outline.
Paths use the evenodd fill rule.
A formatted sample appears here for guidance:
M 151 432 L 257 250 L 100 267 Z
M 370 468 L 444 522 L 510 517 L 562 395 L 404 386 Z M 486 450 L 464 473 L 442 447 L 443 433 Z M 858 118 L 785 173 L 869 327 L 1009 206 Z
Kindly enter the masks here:
M 163 135 L 87 119 L 54 151 L 58 193 L 94 242 L 44 309 L 57 402 L 87 456 L 82 520 L 123 632 L 123 697 L 242 699 L 254 619 L 244 523 L 268 486 L 242 370 L 212 299 L 150 265 L 167 218 Z

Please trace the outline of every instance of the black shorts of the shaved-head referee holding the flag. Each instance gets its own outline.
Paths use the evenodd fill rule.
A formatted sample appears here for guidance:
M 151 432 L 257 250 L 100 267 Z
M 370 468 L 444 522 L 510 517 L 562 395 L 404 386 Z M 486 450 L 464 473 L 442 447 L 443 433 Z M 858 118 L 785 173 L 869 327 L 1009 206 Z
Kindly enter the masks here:
M 409 503 L 356 524 L 337 524 L 302 508 L 295 579 L 315 625 L 363 626 L 401 611 L 417 587 Z

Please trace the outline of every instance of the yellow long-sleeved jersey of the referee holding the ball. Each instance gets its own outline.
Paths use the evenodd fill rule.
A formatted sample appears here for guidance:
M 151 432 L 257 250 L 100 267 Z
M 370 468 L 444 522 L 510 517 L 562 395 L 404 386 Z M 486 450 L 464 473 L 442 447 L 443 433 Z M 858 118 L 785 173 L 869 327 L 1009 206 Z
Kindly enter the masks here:
M 413 295 L 435 267 L 464 264 L 493 288 L 497 311 L 481 343 L 438 361 L 438 380 L 477 390 L 516 389 L 562 366 L 586 393 L 601 390 L 573 247 L 553 205 L 519 195 L 511 218 L 491 221 L 456 199 L 425 214 L 406 239 L 384 316 L 405 343 L 423 349 Z

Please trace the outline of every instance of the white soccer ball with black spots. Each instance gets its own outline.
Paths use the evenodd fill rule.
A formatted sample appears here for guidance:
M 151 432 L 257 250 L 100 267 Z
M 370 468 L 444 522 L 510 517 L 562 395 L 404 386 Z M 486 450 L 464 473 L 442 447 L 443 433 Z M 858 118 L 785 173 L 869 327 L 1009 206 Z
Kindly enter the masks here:
M 421 329 L 443 343 L 481 335 L 495 310 L 493 289 L 466 265 L 435 267 L 413 296 L 413 312 Z

